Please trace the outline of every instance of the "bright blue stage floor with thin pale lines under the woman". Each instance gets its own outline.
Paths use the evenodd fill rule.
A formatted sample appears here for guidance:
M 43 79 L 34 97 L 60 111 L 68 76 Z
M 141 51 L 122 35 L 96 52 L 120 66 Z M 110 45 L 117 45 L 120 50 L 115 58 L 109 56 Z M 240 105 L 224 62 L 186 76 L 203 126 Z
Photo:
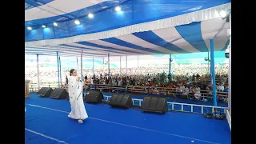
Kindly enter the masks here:
M 85 104 L 89 118 L 84 123 L 67 117 L 70 102 L 26 98 L 26 144 L 230 144 L 226 120 L 204 118 L 201 114 L 167 112 L 147 114 L 121 110 L 106 104 Z

